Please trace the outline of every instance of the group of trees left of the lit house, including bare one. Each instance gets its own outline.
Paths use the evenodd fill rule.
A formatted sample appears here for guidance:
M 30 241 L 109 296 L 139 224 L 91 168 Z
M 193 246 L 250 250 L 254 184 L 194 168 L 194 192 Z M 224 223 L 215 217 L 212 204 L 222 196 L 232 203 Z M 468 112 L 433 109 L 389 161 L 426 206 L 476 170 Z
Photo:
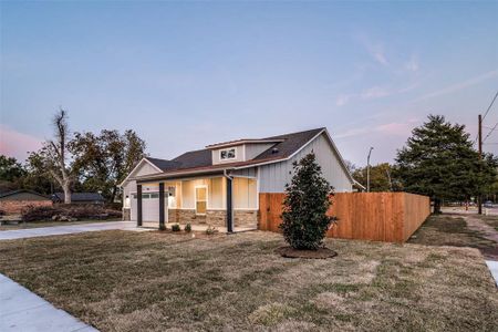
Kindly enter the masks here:
M 31 152 L 24 164 L 0 156 L 0 191 L 63 191 L 64 203 L 71 203 L 71 193 L 91 191 L 113 203 L 120 183 L 146 156 L 145 141 L 132 129 L 71 133 L 64 110 L 54 115 L 52 124 L 53 138 Z

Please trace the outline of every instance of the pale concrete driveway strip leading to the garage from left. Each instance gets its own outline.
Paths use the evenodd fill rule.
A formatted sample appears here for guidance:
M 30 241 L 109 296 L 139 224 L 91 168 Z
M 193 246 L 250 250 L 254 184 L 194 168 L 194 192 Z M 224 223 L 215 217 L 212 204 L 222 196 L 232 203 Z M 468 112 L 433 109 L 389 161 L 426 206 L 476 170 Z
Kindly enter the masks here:
M 110 229 L 122 229 L 133 231 L 151 230 L 147 228 L 137 228 L 135 221 L 106 221 L 106 222 L 68 225 L 68 226 L 2 230 L 0 231 L 0 240 L 15 240 L 33 237 L 46 237 L 54 235 L 66 235 L 66 234 L 110 230 Z

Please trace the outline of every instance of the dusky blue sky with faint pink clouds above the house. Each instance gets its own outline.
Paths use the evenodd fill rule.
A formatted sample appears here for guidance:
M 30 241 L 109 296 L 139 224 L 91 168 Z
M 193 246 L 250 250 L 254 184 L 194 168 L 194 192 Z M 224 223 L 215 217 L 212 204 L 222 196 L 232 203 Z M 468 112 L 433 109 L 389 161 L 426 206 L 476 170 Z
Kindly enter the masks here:
M 498 1 L 0 7 L 0 153 L 20 160 L 63 107 L 73 132 L 131 128 L 158 158 L 328 127 L 363 166 L 371 146 L 393 162 L 428 114 L 475 137 L 498 91 Z M 496 123 L 498 101 L 485 135 Z

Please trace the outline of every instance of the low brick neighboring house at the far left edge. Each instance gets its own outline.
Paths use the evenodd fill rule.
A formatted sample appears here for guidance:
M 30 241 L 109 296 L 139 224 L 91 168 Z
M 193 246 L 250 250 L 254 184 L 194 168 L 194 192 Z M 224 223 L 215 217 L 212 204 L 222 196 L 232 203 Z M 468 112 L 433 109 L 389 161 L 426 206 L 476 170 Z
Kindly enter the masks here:
M 8 215 L 19 215 L 30 206 L 52 206 L 50 197 L 20 189 L 0 194 L 0 210 Z

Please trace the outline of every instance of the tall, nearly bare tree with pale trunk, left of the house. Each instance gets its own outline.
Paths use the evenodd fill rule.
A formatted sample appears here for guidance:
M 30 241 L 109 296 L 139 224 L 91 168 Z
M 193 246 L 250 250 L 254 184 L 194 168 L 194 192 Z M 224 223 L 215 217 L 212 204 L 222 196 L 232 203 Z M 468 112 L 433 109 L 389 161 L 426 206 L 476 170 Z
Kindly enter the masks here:
M 71 203 L 71 172 L 66 166 L 69 141 L 68 112 L 60 108 L 53 117 L 55 128 L 54 139 L 46 141 L 43 146 L 43 157 L 49 174 L 58 181 L 64 191 L 64 203 Z

